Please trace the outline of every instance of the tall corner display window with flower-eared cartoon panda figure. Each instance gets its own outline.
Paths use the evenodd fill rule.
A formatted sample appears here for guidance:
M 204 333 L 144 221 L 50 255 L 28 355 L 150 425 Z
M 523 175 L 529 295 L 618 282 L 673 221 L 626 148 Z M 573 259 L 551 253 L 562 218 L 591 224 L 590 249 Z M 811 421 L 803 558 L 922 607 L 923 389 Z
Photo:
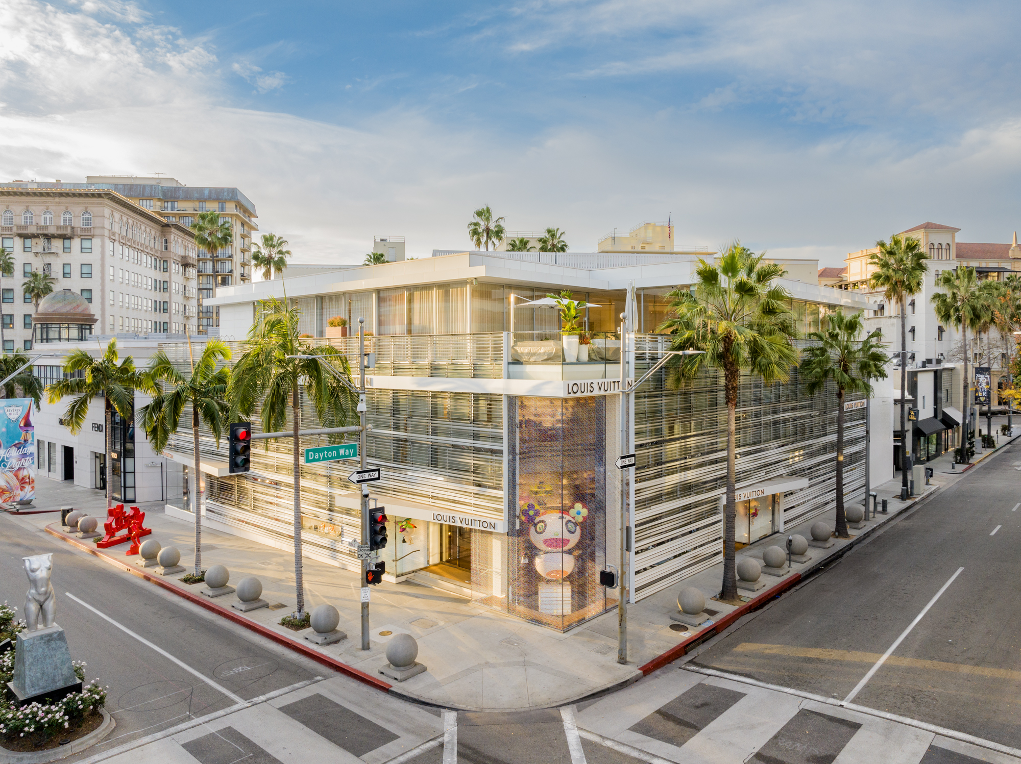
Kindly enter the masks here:
M 505 596 L 494 592 L 484 602 L 566 630 L 616 604 L 599 585 L 606 555 L 605 399 L 513 398 L 509 407 L 516 427 Z M 478 556 L 473 549 L 473 589 Z

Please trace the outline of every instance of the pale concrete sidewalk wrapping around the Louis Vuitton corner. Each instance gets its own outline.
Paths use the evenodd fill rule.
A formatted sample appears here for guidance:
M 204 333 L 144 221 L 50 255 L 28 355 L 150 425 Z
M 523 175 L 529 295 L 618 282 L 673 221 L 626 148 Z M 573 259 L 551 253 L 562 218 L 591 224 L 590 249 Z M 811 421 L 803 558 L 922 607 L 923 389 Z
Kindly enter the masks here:
M 1021 427 L 1016 428 L 1021 434 Z M 1002 438 L 1001 448 L 1012 439 Z M 976 454 L 976 463 L 995 450 Z M 945 463 L 944 463 L 945 462 Z M 419 641 L 419 661 L 428 671 L 405 682 L 396 684 L 396 692 L 410 699 L 471 711 L 510 711 L 561 706 L 577 702 L 601 692 L 620 687 L 649 673 L 661 665 L 683 655 L 687 646 L 697 644 L 716 632 L 735 615 L 765 604 L 779 591 L 803 578 L 812 570 L 845 553 L 870 533 L 889 522 L 942 487 L 960 479 L 963 470 L 951 468 L 949 456 L 930 463 L 935 467 L 932 485 L 919 487 L 919 495 L 902 502 L 900 480 L 891 480 L 874 489 L 880 500 L 887 499 L 889 513 L 871 515 L 865 526 L 852 530 L 850 539 L 833 539 L 829 549 L 810 548 L 811 560 L 794 563 L 788 571 L 777 577 L 768 577 L 768 584 L 758 593 L 744 593 L 747 604 L 740 608 L 711 598 L 720 590 L 723 565 L 718 564 L 682 583 L 652 595 L 628 608 L 629 662 L 617 663 L 617 612 L 611 611 L 569 631 L 560 633 L 533 625 L 501 613 L 480 607 L 467 599 L 414 583 L 382 583 L 372 590 L 371 649 L 360 650 L 360 600 L 356 573 L 327 565 L 311 559 L 303 564 L 306 608 L 329 603 L 341 613 L 340 628 L 348 639 L 335 645 L 318 647 L 303 640 L 303 632 L 294 632 L 279 625 L 281 616 L 295 606 L 293 557 L 281 550 L 255 542 L 203 528 L 203 567 L 220 563 L 231 571 L 231 582 L 236 583 L 246 575 L 255 575 L 263 585 L 262 599 L 275 609 L 263 608 L 233 615 L 248 619 L 252 624 L 270 629 L 291 640 L 299 641 L 347 666 L 379 676 L 379 669 L 386 663 L 384 652 L 393 634 L 409 633 Z M 96 491 L 79 489 L 63 482 L 43 478 L 38 483 L 37 506 L 40 509 L 72 505 L 91 514 L 104 514 L 103 497 Z M 182 564 L 190 568 L 193 559 L 193 528 L 190 523 L 167 516 L 162 506 L 143 507 L 147 512 L 146 525 L 152 537 L 162 546 L 175 546 L 182 553 Z M 790 533 L 811 538 L 809 527 L 820 519 L 834 522 L 835 510 L 819 517 L 788 527 L 782 536 L 773 536 L 738 552 L 761 559 L 768 546 L 783 545 Z M 42 529 L 51 525 L 59 527 L 58 515 L 21 515 L 22 523 Z M 57 531 L 59 533 L 59 530 Z M 59 533 L 63 537 L 62 533 Z M 64 537 L 66 538 L 66 537 Z M 125 556 L 127 545 L 100 551 L 110 559 L 131 564 L 137 557 Z M 150 569 L 151 572 L 151 569 Z M 165 582 L 192 596 L 198 595 L 201 584 L 189 587 L 174 576 Z M 148 584 L 146 584 L 148 585 Z M 710 623 L 700 630 L 687 629 L 671 619 L 677 612 L 677 594 L 684 587 L 696 587 L 707 598 Z M 213 600 L 212 603 L 230 608 L 236 602 L 233 595 Z M 740 610 L 740 613 L 735 613 Z M 728 617 L 730 616 L 730 617 Z M 310 632 L 310 629 L 309 629 Z M 386 633 L 389 632 L 389 633 Z

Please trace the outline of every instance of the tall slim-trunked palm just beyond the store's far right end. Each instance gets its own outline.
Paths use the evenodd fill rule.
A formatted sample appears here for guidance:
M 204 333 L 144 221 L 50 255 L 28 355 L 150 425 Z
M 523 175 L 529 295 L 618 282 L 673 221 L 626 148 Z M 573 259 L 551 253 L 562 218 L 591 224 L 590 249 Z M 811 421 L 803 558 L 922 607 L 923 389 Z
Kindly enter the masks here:
M 922 291 L 922 281 L 929 269 L 921 243 L 911 236 L 890 236 L 889 244 L 876 242 L 878 252 L 869 257 L 875 266 L 869 276 L 871 289 L 883 290 L 883 297 L 901 306 L 901 491 L 908 490 L 908 458 L 911 455 L 911 434 L 907 430 L 904 402 L 908 389 L 908 297 Z

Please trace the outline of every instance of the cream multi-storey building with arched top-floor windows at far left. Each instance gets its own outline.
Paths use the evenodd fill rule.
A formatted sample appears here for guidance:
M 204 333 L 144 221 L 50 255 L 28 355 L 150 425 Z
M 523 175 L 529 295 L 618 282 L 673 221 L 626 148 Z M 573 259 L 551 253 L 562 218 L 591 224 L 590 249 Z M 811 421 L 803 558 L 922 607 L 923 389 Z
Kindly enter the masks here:
M 35 306 L 22 288 L 33 271 L 54 291 L 77 292 L 96 316 L 93 333 L 193 334 L 195 236 L 107 189 L 0 184 L 0 246 L 14 268 L 0 276 L 4 352 L 29 350 Z

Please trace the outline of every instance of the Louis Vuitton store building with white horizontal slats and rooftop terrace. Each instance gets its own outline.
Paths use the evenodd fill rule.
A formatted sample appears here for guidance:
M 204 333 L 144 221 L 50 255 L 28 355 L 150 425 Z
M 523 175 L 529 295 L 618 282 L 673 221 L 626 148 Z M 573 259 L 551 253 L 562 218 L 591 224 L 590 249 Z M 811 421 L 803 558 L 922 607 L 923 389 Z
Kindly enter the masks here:
M 508 260 L 513 255 L 536 257 L 450 255 L 442 258 L 444 281 L 433 284 L 428 279 L 435 282 L 438 263 L 428 260 L 355 268 L 289 279 L 287 294 L 314 316 L 309 334 L 334 312 L 370 314 L 367 324 L 375 334 L 367 350 L 375 354 L 375 367 L 367 372 L 373 425 L 368 461 L 383 472 L 372 485 L 372 502 L 386 507 L 391 523 L 383 557 L 387 578 L 567 630 L 617 604 L 617 592 L 599 585 L 598 573 L 620 563 L 622 478 L 634 536 L 634 600 L 722 559 L 723 384 L 708 369 L 675 391 L 662 372 L 653 374 L 633 396 L 624 422 L 633 432 L 637 464 L 618 470 L 621 363 L 627 376 L 640 376 L 669 349 L 670 338 L 634 333 L 622 359 L 610 311 L 623 309 L 628 284 L 622 279 L 629 273 L 604 272 L 592 255 L 591 267 L 560 267 L 554 287 L 551 274 L 549 283 L 536 282 L 549 270 L 542 262 Z M 644 321 L 648 329 L 662 319 L 670 285 L 693 279 L 691 259 L 657 265 L 658 275 L 644 269 L 646 283 L 636 283 L 632 301 L 636 325 Z M 585 328 L 598 350 L 585 360 L 570 360 L 566 346 L 560 350 L 555 311 L 519 307 L 520 295 L 527 302 L 572 279 L 576 299 L 592 304 Z M 864 305 L 852 293 L 788 284 L 793 297 L 813 297 L 816 310 L 823 298 L 837 303 L 826 309 Z M 266 282 L 222 292 L 215 298 L 222 333 L 243 337 L 254 300 L 279 288 Z M 437 330 L 451 328 L 461 330 Z M 356 338 L 310 342 L 338 347 L 357 368 Z M 539 343 L 550 346 L 543 346 L 541 358 Z M 166 350 L 187 362 L 186 348 Z M 239 352 L 236 347 L 235 357 Z M 302 416 L 307 427 L 317 426 L 310 407 Z M 796 371 L 787 384 L 771 387 L 742 378 L 737 482 L 747 496 L 739 541 L 741 532 L 748 541 L 781 532 L 832 506 L 835 419 L 835 393 L 807 396 Z M 190 431 L 176 438 L 180 443 L 171 450 L 187 453 Z M 207 470 L 206 522 L 290 550 L 291 444 L 269 443 L 268 451 L 253 451 L 247 474 Z M 326 440 L 302 442 L 319 445 Z M 211 439 L 203 440 L 203 454 L 210 463 L 224 458 Z M 864 458 L 865 412 L 856 410 L 846 417 L 848 497 L 864 490 Z M 351 466 L 304 465 L 301 506 L 305 554 L 356 570 L 351 544 L 360 521 L 358 494 L 347 481 Z

